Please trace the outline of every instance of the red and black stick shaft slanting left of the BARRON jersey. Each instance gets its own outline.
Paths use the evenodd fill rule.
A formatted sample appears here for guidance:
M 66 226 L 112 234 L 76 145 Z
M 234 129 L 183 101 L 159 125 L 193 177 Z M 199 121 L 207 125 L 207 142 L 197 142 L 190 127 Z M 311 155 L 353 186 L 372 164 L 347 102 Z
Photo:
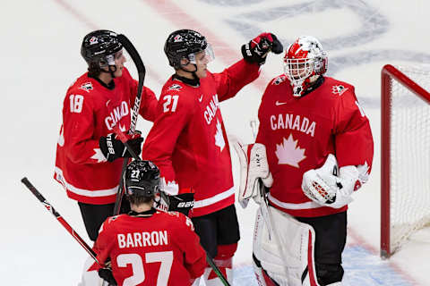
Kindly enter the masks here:
M 61 223 L 64 226 L 64 229 L 66 231 L 68 231 L 73 238 L 78 241 L 79 244 L 81 244 L 82 248 L 84 248 L 88 254 L 90 255 L 90 257 L 92 257 L 96 263 L 98 265 L 100 265 L 99 263 L 99 259 L 97 259 L 97 254 L 94 252 L 94 250 L 92 250 L 92 248 L 90 248 L 88 246 L 88 244 L 85 242 L 85 240 L 82 240 L 82 238 L 79 236 L 79 234 L 73 230 L 72 226 L 70 226 L 69 223 L 67 223 L 63 216 L 61 216 L 61 214 L 58 214 L 58 212 L 56 211 L 56 209 L 54 208 L 54 206 L 52 206 L 46 198 L 44 198 L 42 196 L 42 194 L 39 193 L 39 190 L 36 189 L 31 183 L 30 181 L 27 179 L 27 177 L 22 178 L 22 183 L 28 188 L 30 189 L 30 191 L 33 193 L 33 195 L 39 199 L 40 203 L 43 204 L 43 206 L 45 206 L 47 208 L 47 211 L 51 214 L 53 214 L 56 217 L 56 220 Z

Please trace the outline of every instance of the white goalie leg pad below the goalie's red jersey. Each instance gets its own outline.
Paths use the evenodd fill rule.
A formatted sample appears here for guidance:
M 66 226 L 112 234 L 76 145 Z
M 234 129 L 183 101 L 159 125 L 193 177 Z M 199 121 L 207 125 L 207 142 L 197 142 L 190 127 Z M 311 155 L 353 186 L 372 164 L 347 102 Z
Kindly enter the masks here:
M 270 231 L 271 227 L 266 223 L 268 219 L 263 217 L 260 207 L 255 220 L 254 257 L 259 260 L 262 269 L 271 279 L 280 285 L 317 286 L 314 229 L 274 207 L 269 206 L 268 212 L 271 215 L 271 227 L 275 229 Z M 280 246 L 277 244 L 278 240 Z M 259 279 L 259 282 L 262 282 L 262 279 Z

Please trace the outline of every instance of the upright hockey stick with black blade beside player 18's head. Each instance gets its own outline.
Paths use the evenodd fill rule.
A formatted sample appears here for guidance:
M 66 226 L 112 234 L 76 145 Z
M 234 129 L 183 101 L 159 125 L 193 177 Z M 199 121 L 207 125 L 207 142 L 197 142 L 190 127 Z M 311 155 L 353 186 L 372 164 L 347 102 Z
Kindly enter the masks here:
M 136 65 L 137 73 L 139 75 L 139 83 L 137 86 L 137 94 L 136 98 L 134 99 L 134 105 L 133 105 L 133 112 L 132 112 L 132 118 L 130 122 L 130 130 L 128 130 L 129 134 L 133 134 L 136 130 L 136 122 L 137 117 L 139 115 L 139 109 L 141 108 L 141 100 L 142 100 L 142 89 L 143 89 L 143 81 L 145 80 L 146 75 L 146 69 L 145 65 L 142 62 L 142 58 L 137 52 L 136 48 L 133 46 L 132 42 L 125 37 L 123 34 L 118 35 L 118 40 L 123 44 L 125 47 L 125 50 L 128 52 L 128 54 L 132 57 L 134 64 Z M 121 132 L 119 132 L 121 133 Z M 118 134 L 116 132 L 116 134 Z M 130 154 L 133 156 L 133 150 L 130 148 L 130 146 L 125 145 L 125 147 L 129 150 Z M 135 155 L 135 154 L 134 154 Z M 134 156 L 133 156 L 134 157 Z M 119 186 L 118 190 L 116 192 L 116 201 L 114 206 L 114 215 L 119 214 L 119 209 L 121 207 L 121 201 L 123 200 L 123 174 L 125 172 L 125 168 L 127 167 L 128 159 L 124 159 L 123 168 L 121 170 L 121 177 L 119 179 Z

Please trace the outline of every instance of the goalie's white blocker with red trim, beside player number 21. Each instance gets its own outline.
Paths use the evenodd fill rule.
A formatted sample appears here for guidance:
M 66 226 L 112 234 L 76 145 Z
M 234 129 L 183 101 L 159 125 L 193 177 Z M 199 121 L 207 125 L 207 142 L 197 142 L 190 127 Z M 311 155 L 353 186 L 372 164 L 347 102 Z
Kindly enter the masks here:
M 260 204 L 259 179 L 262 179 L 262 183 L 267 188 L 270 188 L 273 183 L 266 147 L 260 143 L 244 145 L 237 140 L 233 142 L 233 146 L 240 163 L 240 186 L 237 196 L 240 206 L 245 208 L 250 198 L 254 198 L 255 202 Z

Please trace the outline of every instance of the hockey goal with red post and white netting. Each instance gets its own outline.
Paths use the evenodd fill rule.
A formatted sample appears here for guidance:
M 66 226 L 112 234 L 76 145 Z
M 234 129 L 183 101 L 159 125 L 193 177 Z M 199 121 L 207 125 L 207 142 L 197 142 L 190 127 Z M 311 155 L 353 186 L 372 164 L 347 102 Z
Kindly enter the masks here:
M 430 68 L 387 64 L 381 80 L 381 257 L 388 258 L 430 223 Z

